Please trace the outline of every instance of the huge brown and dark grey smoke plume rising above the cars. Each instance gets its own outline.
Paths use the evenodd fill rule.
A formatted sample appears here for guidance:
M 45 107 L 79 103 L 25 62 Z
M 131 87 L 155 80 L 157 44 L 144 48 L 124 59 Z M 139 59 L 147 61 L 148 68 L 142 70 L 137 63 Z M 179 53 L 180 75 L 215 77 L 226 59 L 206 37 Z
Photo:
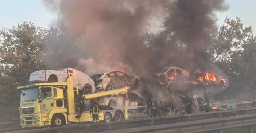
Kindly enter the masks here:
M 205 66 L 210 60 L 214 11 L 228 8 L 224 0 L 43 0 L 43 3 L 58 15 L 57 25 L 63 23 L 69 27 L 73 42 L 70 47 L 82 51 L 73 54 L 84 54 L 77 59 L 77 67 L 88 74 L 116 69 L 147 74 L 171 64 L 187 69 Z M 159 22 L 163 22 L 163 27 L 156 28 Z M 143 33 L 152 31 L 160 32 L 151 34 L 151 42 L 145 41 Z

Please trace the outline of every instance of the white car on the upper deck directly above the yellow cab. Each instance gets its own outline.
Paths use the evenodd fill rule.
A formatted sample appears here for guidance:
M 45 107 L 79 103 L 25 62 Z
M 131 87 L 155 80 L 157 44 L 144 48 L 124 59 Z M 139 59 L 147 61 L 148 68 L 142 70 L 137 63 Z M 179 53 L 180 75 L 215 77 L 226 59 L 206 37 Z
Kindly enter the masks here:
M 94 81 L 85 73 L 72 68 L 59 70 L 40 70 L 30 74 L 29 83 L 66 82 L 69 75 L 73 76 L 73 84 L 84 94 L 95 92 Z

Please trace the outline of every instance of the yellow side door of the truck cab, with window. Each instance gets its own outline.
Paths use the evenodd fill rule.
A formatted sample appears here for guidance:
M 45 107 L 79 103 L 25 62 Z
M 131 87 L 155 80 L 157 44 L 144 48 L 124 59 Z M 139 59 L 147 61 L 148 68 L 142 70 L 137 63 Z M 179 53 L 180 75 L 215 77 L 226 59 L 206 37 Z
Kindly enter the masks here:
M 42 101 L 40 102 L 40 109 L 42 113 L 46 113 L 54 107 L 52 92 L 53 88 L 51 86 L 41 87 L 39 90 L 39 99 Z

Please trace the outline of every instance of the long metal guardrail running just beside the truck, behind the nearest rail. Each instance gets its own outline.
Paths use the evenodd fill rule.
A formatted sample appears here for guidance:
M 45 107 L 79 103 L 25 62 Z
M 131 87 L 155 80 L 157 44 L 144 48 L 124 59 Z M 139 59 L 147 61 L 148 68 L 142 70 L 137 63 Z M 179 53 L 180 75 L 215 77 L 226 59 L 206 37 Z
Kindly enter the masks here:
M 240 109 L 240 110 L 224 110 L 218 112 L 209 112 L 209 113 L 199 113 L 199 114 L 189 114 L 184 116 L 168 116 L 168 117 L 158 117 L 158 118 L 146 118 L 146 119 L 137 119 L 137 120 L 128 120 L 121 122 L 99 122 L 96 124 L 74 124 L 63 126 L 60 128 L 43 128 L 43 129 L 34 129 L 19 131 L 13 133 L 85 133 L 85 132 L 100 132 L 106 130 L 115 130 L 115 129 L 126 129 L 126 128 L 135 128 L 135 127 L 145 127 L 145 126 L 155 126 L 163 124 L 180 124 L 182 122 L 193 122 L 197 120 L 207 120 L 212 118 L 227 118 L 233 117 L 241 114 L 247 115 L 248 113 L 256 113 L 256 108 L 251 109 Z M 256 115 L 256 114 L 254 114 Z M 244 116 L 244 115 L 241 115 Z

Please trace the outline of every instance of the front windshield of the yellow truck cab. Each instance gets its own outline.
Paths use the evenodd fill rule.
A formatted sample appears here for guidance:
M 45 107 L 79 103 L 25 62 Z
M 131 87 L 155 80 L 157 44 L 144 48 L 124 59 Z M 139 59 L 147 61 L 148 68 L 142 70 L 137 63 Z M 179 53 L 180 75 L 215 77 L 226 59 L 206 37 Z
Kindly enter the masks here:
M 23 89 L 20 95 L 21 102 L 36 101 L 38 99 L 39 89 L 38 88 L 29 88 Z

